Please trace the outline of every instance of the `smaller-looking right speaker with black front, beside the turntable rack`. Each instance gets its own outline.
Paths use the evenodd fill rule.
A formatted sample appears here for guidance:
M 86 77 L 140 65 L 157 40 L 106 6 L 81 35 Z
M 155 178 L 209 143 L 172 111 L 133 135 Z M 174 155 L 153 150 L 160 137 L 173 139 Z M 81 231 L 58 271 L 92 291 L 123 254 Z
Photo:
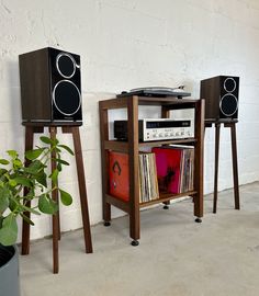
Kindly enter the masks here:
M 205 99 L 205 119 L 237 121 L 239 77 L 217 76 L 201 81 L 201 99 Z

